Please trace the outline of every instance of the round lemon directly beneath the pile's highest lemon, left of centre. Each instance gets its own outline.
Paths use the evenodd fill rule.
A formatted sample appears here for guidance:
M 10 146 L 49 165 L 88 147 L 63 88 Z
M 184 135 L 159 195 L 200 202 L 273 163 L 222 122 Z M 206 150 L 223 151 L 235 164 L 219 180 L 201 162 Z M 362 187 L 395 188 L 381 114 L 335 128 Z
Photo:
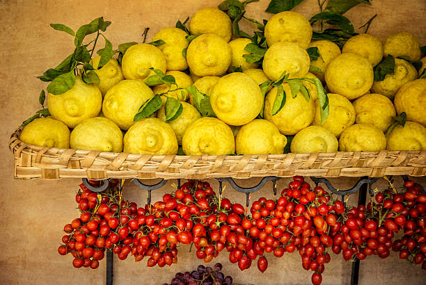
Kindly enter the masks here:
M 228 42 L 214 33 L 199 35 L 187 49 L 189 70 L 197 76 L 218 76 L 225 73 L 231 57 Z

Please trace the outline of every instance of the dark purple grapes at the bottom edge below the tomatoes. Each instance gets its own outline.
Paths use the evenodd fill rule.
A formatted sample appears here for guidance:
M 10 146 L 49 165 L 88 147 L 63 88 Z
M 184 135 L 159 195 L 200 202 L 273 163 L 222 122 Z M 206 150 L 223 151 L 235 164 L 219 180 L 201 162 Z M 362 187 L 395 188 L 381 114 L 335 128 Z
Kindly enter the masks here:
M 178 272 L 171 279 L 171 285 L 225 285 L 232 284 L 232 277 L 226 276 L 221 272 L 222 264 L 216 263 L 213 268 L 210 266 L 198 266 L 197 270 L 192 272 Z M 168 285 L 164 283 L 163 285 Z

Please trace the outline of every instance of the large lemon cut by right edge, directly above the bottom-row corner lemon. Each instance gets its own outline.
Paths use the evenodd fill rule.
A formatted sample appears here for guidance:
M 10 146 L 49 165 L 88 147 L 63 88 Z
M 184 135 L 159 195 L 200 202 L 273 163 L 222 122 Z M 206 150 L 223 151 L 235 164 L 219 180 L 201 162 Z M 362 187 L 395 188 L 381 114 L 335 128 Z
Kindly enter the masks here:
M 416 79 L 404 84 L 395 95 L 395 110 L 407 114 L 407 120 L 426 127 L 426 79 Z

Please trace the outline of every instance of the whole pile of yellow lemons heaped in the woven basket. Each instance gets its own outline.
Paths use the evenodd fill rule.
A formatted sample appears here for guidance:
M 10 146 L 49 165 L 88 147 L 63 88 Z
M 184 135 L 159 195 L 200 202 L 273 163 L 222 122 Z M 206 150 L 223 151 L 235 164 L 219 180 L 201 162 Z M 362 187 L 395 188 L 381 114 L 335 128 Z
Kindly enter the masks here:
M 313 29 L 303 15 L 278 13 L 265 25 L 269 48 L 260 66 L 246 62 L 243 55 L 249 54 L 245 47 L 251 40 L 232 40 L 231 20 L 217 8 L 198 10 L 189 31 L 197 35 L 191 41 L 182 29 L 161 29 L 153 40 L 164 44 L 134 44 L 121 65 L 111 59 L 96 70 L 99 85 L 77 76 L 68 92 L 48 94 L 52 116 L 24 127 L 21 140 L 45 147 L 157 155 L 178 154 L 180 145 L 186 155 L 283 154 L 289 138 L 296 153 L 426 149 L 426 79 L 418 79 L 423 69 L 418 73 L 409 60 L 397 58 L 420 60 L 420 44 L 410 33 L 390 35 L 384 43 L 359 34 L 340 50 L 328 40 L 311 41 Z M 317 47 L 316 60 L 310 60 L 310 47 Z M 394 72 L 374 81 L 373 68 L 387 55 L 395 58 Z M 99 60 L 92 59 L 94 67 Z M 426 58 L 421 61 L 424 68 Z M 145 79 L 155 74 L 152 68 L 172 75 L 178 88 L 196 86 L 210 97 L 216 117 L 202 117 L 186 90 L 147 86 Z M 242 72 L 232 72 L 235 68 Z M 309 100 L 301 92 L 293 98 L 290 85 L 283 83 L 285 105 L 271 115 L 278 88 L 269 88 L 264 97 L 260 84 L 276 81 L 284 71 L 290 79 L 318 78 L 324 83 L 329 98 L 325 122 L 310 83 Z M 164 100 L 154 115 L 134 122 L 139 108 L 164 92 L 182 101 L 181 115 L 166 122 Z M 398 124 L 388 131 L 403 112 L 404 127 Z

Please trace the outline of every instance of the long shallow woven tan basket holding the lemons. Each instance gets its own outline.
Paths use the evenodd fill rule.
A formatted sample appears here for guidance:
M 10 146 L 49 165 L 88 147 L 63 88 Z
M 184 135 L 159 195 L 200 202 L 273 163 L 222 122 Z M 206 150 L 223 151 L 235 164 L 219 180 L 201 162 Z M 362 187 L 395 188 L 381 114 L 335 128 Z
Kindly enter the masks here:
M 244 156 L 155 156 L 38 147 L 10 137 L 15 178 L 164 178 L 210 177 L 383 177 L 425 176 L 426 151 L 260 154 Z

